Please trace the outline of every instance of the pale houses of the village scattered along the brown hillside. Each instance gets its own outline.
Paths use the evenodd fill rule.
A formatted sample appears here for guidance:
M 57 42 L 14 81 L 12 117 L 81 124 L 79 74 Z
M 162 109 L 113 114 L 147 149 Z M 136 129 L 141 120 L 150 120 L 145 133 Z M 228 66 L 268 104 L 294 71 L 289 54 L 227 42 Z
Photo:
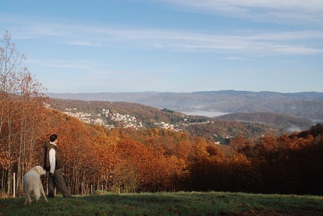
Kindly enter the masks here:
M 50 104 L 44 103 L 44 106 L 49 109 L 57 109 L 63 111 L 65 114 L 69 116 L 73 116 L 75 118 L 80 119 L 86 124 L 93 124 L 93 125 L 99 125 L 102 127 L 105 127 L 107 129 L 113 129 L 113 128 L 134 128 L 136 130 L 145 130 L 145 129 L 151 129 L 153 128 L 159 128 L 159 129 L 165 129 L 170 130 L 174 132 L 180 132 L 180 131 L 190 131 L 192 134 L 196 134 L 197 136 L 209 136 L 210 140 L 212 140 L 215 144 L 227 144 L 228 140 L 231 139 L 234 136 L 234 133 L 237 134 L 240 129 L 235 129 L 232 131 L 232 127 L 234 126 L 227 126 L 227 129 L 222 130 L 221 126 L 220 129 L 215 126 L 219 124 L 216 121 L 213 121 L 211 118 L 207 117 L 199 117 L 199 116 L 191 116 L 186 115 L 183 113 L 180 113 L 180 117 L 183 119 L 182 122 L 178 124 L 174 124 L 171 122 L 160 121 L 155 119 L 151 119 L 148 121 L 142 121 L 140 117 L 137 117 L 133 114 L 131 114 L 131 111 L 127 113 L 127 111 L 123 111 L 125 114 L 120 114 L 118 111 L 114 110 L 111 111 L 111 109 L 103 108 L 104 106 L 96 106 L 100 108 L 92 108 L 92 111 L 80 111 L 80 108 L 66 108 L 71 107 L 68 105 L 61 105 L 61 106 L 54 106 L 51 107 Z M 83 105 L 77 105 L 75 107 L 82 107 Z M 118 109 L 117 109 L 118 110 Z M 169 112 L 172 113 L 173 111 L 168 110 L 164 108 L 163 110 L 159 110 L 163 112 Z M 147 119 L 146 119 L 147 120 Z M 197 126 L 197 128 L 194 125 L 207 125 L 205 126 L 206 129 L 210 128 L 210 130 L 207 133 L 201 133 L 200 130 L 201 127 L 204 126 Z M 221 123 L 220 123 L 221 125 Z M 244 126 L 239 126 L 244 127 Z M 259 134 L 259 125 L 256 125 L 253 129 L 253 126 L 246 125 L 246 130 L 249 135 L 258 137 L 263 137 L 265 135 L 266 130 L 279 133 L 279 129 L 269 127 L 267 129 L 262 129 L 262 133 Z M 198 129 L 199 128 L 199 129 Z M 197 130 L 197 131 L 196 131 Z M 249 130 L 249 132 L 248 132 Z

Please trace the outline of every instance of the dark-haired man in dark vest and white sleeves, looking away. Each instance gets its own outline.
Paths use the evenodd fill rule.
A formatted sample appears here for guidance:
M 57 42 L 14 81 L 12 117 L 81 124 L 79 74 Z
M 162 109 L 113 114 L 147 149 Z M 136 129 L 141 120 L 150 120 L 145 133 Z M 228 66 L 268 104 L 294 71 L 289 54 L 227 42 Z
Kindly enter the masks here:
M 45 156 L 44 156 L 44 168 L 49 171 L 48 175 L 48 197 L 53 198 L 55 196 L 54 189 L 58 188 L 61 191 L 63 197 L 71 197 L 69 191 L 67 191 L 65 180 L 61 171 L 61 155 L 57 149 L 58 138 L 56 134 L 50 136 L 50 142 L 45 142 Z

